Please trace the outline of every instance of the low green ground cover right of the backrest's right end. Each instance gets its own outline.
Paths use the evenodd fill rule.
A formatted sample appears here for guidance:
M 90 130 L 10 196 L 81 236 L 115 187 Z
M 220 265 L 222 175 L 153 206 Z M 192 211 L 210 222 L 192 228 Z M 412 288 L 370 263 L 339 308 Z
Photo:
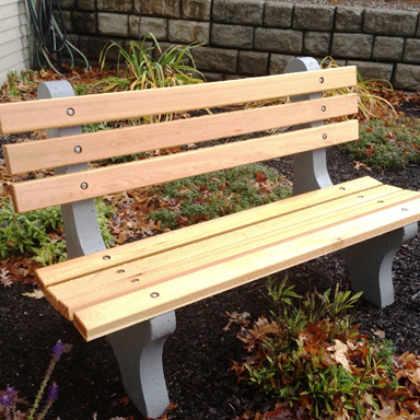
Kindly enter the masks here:
M 409 162 L 420 162 L 420 121 L 372 119 L 360 125 L 358 141 L 340 148 L 375 171 L 401 170 Z

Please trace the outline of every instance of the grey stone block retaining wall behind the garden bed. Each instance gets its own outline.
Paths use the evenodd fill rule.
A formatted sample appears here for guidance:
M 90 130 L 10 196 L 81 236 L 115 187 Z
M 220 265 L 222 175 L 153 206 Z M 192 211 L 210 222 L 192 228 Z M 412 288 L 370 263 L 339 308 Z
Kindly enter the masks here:
M 95 65 L 108 39 L 152 32 L 194 50 L 208 80 L 273 74 L 296 56 L 331 56 L 364 79 L 420 89 L 419 13 L 277 0 L 61 0 L 71 42 Z M 141 20 L 140 20 L 141 16 Z

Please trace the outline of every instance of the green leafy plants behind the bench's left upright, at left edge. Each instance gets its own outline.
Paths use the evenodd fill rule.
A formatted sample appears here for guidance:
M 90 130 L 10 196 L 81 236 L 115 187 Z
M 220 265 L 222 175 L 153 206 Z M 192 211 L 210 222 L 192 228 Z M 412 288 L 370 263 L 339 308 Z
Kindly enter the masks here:
M 108 229 L 108 218 L 113 210 L 101 200 L 96 201 L 98 223 L 105 245 L 113 245 L 113 236 Z M 15 252 L 30 252 L 34 260 L 43 266 L 67 259 L 66 242 L 62 240 L 63 226 L 61 211 L 58 206 L 43 210 L 15 213 L 10 200 L 0 207 L 0 258 Z

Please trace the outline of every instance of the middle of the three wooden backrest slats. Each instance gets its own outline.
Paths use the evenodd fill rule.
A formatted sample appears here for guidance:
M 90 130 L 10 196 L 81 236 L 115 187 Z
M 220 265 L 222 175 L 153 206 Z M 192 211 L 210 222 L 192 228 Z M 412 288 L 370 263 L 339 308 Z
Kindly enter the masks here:
M 322 110 L 325 106 L 325 110 Z M 355 94 L 3 147 L 9 174 L 221 139 L 358 112 Z M 188 132 L 188 136 L 186 136 Z M 75 153 L 75 147 L 82 149 Z

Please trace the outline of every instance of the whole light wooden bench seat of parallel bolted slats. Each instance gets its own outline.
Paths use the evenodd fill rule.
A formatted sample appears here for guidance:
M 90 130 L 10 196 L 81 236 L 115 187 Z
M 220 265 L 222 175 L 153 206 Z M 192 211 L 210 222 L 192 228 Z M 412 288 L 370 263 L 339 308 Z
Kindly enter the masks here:
M 37 270 L 86 340 L 407 225 L 420 194 L 364 177 Z

